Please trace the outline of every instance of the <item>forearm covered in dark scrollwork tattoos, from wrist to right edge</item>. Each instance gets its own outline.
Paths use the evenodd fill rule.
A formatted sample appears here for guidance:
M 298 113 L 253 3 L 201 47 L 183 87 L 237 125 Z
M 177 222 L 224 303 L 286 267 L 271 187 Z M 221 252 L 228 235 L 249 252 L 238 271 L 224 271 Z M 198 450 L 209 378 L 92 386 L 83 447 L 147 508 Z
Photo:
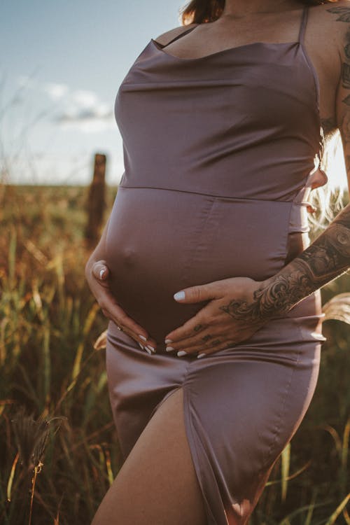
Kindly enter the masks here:
M 285 314 L 297 302 L 350 268 L 350 204 L 306 250 L 255 291 L 253 301 L 221 307 L 230 316 L 264 321 Z

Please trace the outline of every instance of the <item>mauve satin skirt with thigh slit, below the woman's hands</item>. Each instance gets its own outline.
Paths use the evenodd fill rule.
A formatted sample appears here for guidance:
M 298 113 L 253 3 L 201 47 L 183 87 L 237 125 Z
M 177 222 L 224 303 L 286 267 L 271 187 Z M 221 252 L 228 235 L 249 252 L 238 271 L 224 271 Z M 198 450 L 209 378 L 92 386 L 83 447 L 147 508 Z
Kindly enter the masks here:
M 197 359 L 150 356 L 110 322 L 106 370 L 123 457 L 160 403 L 183 388 L 207 523 L 246 524 L 314 394 L 323 340 L 318 324 L 318 316 L 276 319 L 232 349 Z

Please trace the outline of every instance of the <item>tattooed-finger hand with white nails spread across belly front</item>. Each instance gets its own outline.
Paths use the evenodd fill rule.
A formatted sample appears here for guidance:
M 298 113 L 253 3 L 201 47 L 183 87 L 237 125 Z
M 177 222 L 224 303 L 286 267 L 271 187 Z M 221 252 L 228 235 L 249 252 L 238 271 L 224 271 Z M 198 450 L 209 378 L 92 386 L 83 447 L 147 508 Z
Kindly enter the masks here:
M 264 289 L 265 281 L 247 277 L 184 288 L 174 295 L 175 300 L 181 303 L 210 301 L 185 324 L 166 335 L 167 351 L 181 351 L 179 356 L 200 352 L 197 356 L 200 357 L 248 339 L 276 313 L 273 307 L 268 314 L 266 309 L 262 313 L 260 297 Z

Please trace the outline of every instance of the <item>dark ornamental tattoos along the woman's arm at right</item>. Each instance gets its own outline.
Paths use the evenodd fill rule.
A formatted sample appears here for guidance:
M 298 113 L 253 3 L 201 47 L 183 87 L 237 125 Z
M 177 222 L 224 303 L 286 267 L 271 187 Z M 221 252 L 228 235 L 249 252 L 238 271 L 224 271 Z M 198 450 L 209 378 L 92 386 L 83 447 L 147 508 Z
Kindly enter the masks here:
M 339 24 L 342 66 L 337 90 L 337 116 L 322 120 L 325 135 L 339 129 L 344 161 L 350 183 L 350 7 L 327 9 Z M 253 300 L 232 300 L 222 307 L 241 321 L 264 323 L 286 314 L 295 304 L 350 268 L 350 204 L 335 217 L 328 228 L 302 253 L 278 273 L 260 283 Z

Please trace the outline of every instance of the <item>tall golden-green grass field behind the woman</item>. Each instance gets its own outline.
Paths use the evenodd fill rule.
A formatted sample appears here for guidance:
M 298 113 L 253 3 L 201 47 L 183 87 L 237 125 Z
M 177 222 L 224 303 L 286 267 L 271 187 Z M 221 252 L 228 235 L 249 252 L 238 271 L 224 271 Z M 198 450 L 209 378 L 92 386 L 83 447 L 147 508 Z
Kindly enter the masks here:
M 120 468 L 104 349 L 93 348 L 107 320 L 85 283 L 86 201 L 84 187 L 0 187 L 3 525 L 87 525 Z M 349 274 L 323 303 L 344 291 Z M 350 524 L 350 327 L 323 332 L 316 393 L 249 525 Z

